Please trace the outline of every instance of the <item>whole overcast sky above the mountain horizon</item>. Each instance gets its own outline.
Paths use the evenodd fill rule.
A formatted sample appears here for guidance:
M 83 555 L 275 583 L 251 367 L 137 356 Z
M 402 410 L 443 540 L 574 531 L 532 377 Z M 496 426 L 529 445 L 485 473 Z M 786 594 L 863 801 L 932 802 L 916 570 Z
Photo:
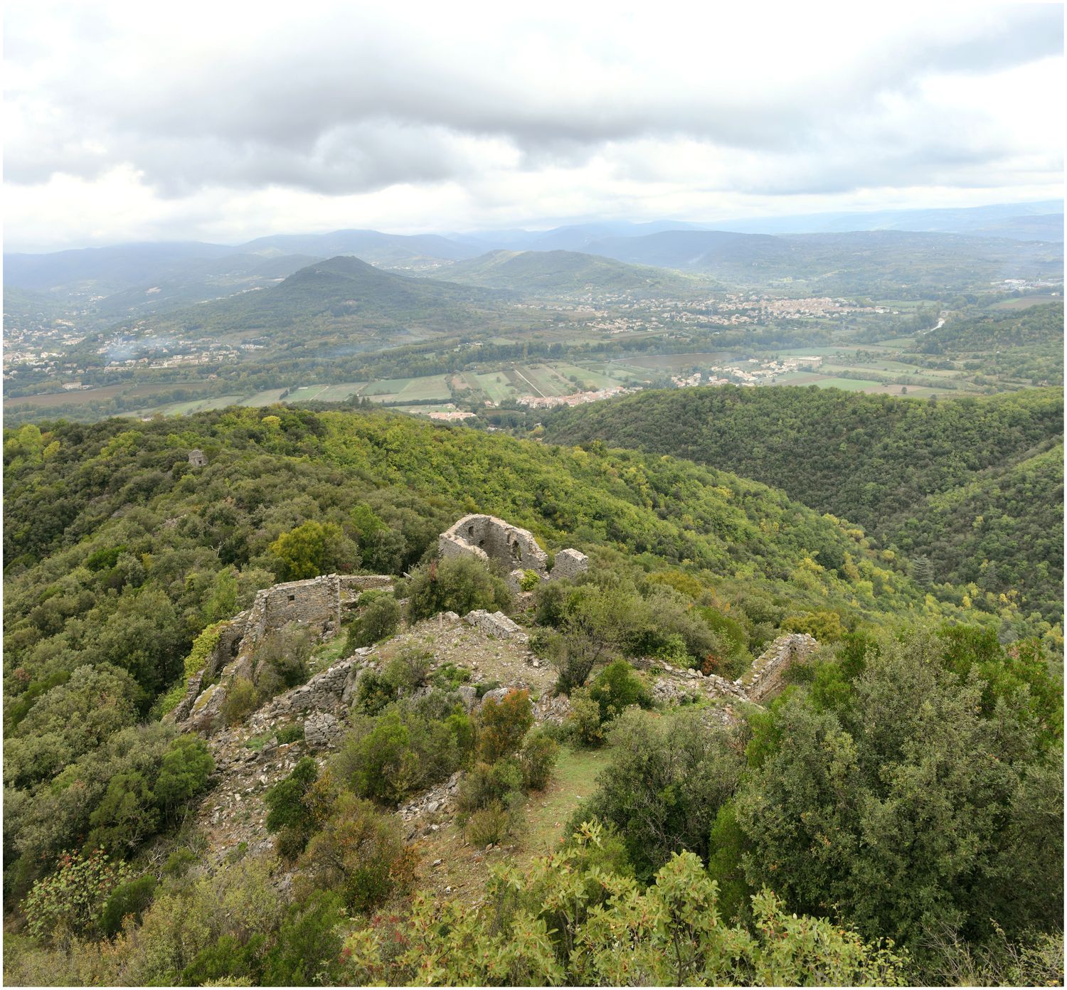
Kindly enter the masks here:
M 1060 4 L 4 6 L 7 251 L 1063 196 Z

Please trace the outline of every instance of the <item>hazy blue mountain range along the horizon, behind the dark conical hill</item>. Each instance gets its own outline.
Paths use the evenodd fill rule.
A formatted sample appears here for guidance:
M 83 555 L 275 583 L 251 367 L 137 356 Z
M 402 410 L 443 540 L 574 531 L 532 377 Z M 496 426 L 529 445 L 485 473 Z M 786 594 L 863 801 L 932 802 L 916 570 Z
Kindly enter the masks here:
M 531 296 L 583 290 L 678 294 L 691 287 L 650 268 L 699 275 L 705 284 L 797 283 L 805 290 L 838 294 L 877 294 L 894 285 L 915 291 L 988 287 L 1003 278 L 1062 274 L 1063 212 L 1055 202 L 822 213 L 731 225 L 746 229 L 671 221 L 448 237 L 352 229 L 273 235 L 237 246 L 190 241 L 6 254 L 5 286 L 23 293 L 6 312 L 22 312 L 36 300 L 43 312 L 57 303 L 75 306 L 102 325 L 266 290 L 310 262 L 338 255 Z M 856 229 L 864 226 L 878 229 Z M 797 233 L 805 227 L 815 233 Z M 646 270 L 612 267 L 606 259 Z

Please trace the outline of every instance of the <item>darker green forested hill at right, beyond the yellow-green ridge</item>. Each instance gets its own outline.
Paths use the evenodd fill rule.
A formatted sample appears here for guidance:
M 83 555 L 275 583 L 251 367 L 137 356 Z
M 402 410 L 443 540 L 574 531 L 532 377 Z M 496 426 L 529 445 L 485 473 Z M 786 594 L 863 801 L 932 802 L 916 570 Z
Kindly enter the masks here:
M 562 411 L 545 427 L 556 443 L 600 441 L 754 478 L 929 558 L 927 579 L 1015 591 L 1046 618 L 1062 616 L 1060 389 L 943 401 L 790 387 L 644 392 Z

